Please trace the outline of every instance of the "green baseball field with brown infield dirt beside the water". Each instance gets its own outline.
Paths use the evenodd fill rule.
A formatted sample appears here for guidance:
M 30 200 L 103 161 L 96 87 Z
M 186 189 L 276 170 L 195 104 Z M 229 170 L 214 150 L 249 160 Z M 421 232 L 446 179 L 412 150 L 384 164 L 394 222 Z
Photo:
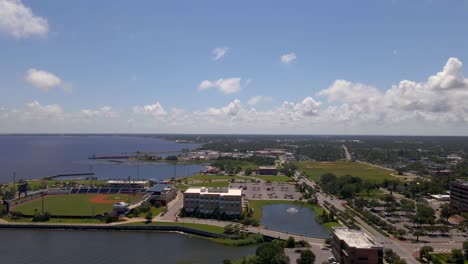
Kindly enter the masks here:
M 112 204 L 139 199 L 140 196 L 127 194 L 73 194 L 48 195 L 44 197 L 44 210 L 52 215 L 88 216 L 109 212 Z M 13 208 L 16 212 L 33 215 L 35 211 L 41 212 L 42 199 L 36 199 Z

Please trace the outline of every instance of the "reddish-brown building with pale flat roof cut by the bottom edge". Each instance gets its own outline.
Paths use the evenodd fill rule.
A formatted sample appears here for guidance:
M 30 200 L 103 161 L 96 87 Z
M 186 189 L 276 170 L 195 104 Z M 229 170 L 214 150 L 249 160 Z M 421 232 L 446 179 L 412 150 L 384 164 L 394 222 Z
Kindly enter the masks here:
M 382 264 L 383 247 L 367 234 L 348 228 L 333 228 L 332 253 L 341 264 Z

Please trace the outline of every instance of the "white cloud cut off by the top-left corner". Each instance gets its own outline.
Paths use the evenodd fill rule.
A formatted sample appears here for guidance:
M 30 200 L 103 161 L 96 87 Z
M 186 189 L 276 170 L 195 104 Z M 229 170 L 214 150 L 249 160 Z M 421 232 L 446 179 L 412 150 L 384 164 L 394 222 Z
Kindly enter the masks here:
M 0 0 L 0 31 L 18 39 L 45 36 L 49 25 L 20 0 Z

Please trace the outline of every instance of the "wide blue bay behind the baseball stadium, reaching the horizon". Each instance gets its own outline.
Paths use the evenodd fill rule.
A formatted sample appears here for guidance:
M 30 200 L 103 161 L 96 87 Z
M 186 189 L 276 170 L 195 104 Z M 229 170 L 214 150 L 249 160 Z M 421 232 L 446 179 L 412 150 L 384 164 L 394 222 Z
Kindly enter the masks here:
M 137 178 L 137 162 L 89 160 L 92 155 L 120 156 L 135 151 L 173 152 L 194 149 L 197 144 L 178 144 L 143 136 L 0 136 L 0 183 L 16 179 L 34 179 L 92 169 L 101 179 Z M 168 155 L 170 153 L 160 154 Z M 92 166 L 92 168 L 90 168 Z M 140 163 L 140 177 L 168 179 L 184 177 L 203 170 L 201 165 L 177 165 L 164 162 Z

